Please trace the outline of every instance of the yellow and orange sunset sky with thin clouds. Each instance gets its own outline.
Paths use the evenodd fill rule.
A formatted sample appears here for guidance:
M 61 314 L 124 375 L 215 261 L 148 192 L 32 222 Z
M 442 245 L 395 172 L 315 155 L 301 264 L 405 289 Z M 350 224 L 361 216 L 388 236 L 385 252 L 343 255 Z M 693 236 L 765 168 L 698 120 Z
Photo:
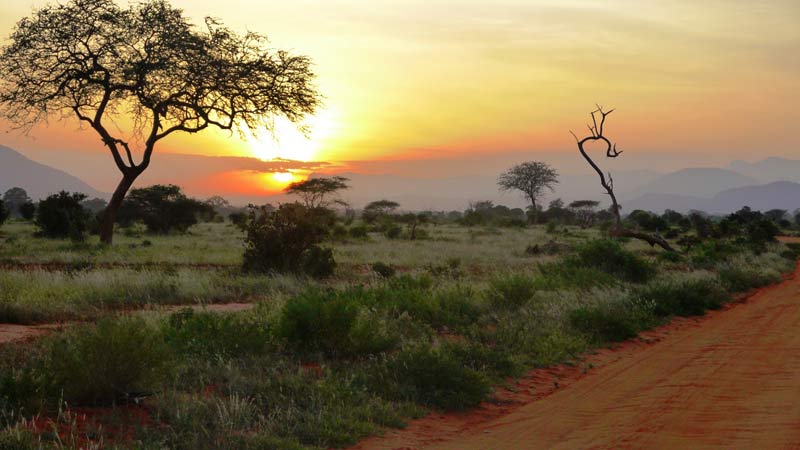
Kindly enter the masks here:
M 45 3 L 2 2 L 2 34 Z M 585 130 L 600 102 L 617 108 L 609 129 L 630 153 L 682 155 L 685 164 L 800 157 L 796 0 L 172 3 L 196 23 L 218 17 L 310 56 L 325 108 L 310 120 L 310 139 L 282 124 L 279 143 L 208 132 L 171 138 L 161 152 L 347 170 L 509 152 L 535 159 L 574 152 L 568 131 Z M 51 150 L 102 151 L 76 128 L 53 123 L 0 143 L 40 160 Z

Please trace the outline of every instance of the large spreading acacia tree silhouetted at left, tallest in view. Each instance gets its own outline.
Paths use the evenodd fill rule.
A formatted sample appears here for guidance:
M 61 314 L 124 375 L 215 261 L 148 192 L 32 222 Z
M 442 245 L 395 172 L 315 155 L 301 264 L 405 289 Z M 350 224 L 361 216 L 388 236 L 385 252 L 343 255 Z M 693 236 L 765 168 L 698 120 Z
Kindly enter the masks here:
M 214 19 L 195 28 L 166 0 L 127 9 L 114 0 L 68 0 L 20 20 L 0 53 L 0 113 L 30 131 L 54 115 L 97 132 L 122 173 L 100 227 L 111 243 L 117 210 L 176 132 L 271 130 L 319 105 L 305 56 L 267 48 Z

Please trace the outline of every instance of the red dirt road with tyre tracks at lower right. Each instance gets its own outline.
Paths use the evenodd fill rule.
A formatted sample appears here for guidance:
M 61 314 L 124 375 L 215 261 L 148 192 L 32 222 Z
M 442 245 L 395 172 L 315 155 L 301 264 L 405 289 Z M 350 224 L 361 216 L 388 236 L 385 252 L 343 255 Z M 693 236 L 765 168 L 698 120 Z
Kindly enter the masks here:
M 800 449 L 798 275 L 589 357 L 599 367 L 507 413 L 432 415 L 358 448 Z

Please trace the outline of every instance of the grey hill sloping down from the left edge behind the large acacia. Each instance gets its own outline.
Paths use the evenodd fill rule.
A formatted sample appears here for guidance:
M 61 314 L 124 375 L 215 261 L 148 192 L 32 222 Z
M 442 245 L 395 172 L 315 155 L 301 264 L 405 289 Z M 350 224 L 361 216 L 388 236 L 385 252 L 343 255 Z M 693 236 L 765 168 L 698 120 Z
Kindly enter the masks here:
M 21 187 L 34 200 L 58 191 L 83 192 L 89 197 L 107 197 L 79 178 L 64 171 L 32 161 L 0 145 L 0 193 Z

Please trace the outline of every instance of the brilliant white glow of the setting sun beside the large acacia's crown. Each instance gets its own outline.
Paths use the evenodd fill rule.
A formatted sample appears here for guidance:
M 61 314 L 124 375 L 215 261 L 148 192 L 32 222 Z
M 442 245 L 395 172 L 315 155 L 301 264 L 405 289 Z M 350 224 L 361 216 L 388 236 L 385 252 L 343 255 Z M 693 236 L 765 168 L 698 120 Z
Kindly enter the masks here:
M 326 110 L 309 116 L 301 126 L 307 128 L 306 133 L 299 130 L 298 125 L 289 119 L 276 118 L 273 133 L 251 134 L 250 151 L 256 158 L 264 161 L 278 158 L 314 161 L 323 141 L 331 134 L 332 114 Z M 282 176 L 286 177 L 286 175 Z

